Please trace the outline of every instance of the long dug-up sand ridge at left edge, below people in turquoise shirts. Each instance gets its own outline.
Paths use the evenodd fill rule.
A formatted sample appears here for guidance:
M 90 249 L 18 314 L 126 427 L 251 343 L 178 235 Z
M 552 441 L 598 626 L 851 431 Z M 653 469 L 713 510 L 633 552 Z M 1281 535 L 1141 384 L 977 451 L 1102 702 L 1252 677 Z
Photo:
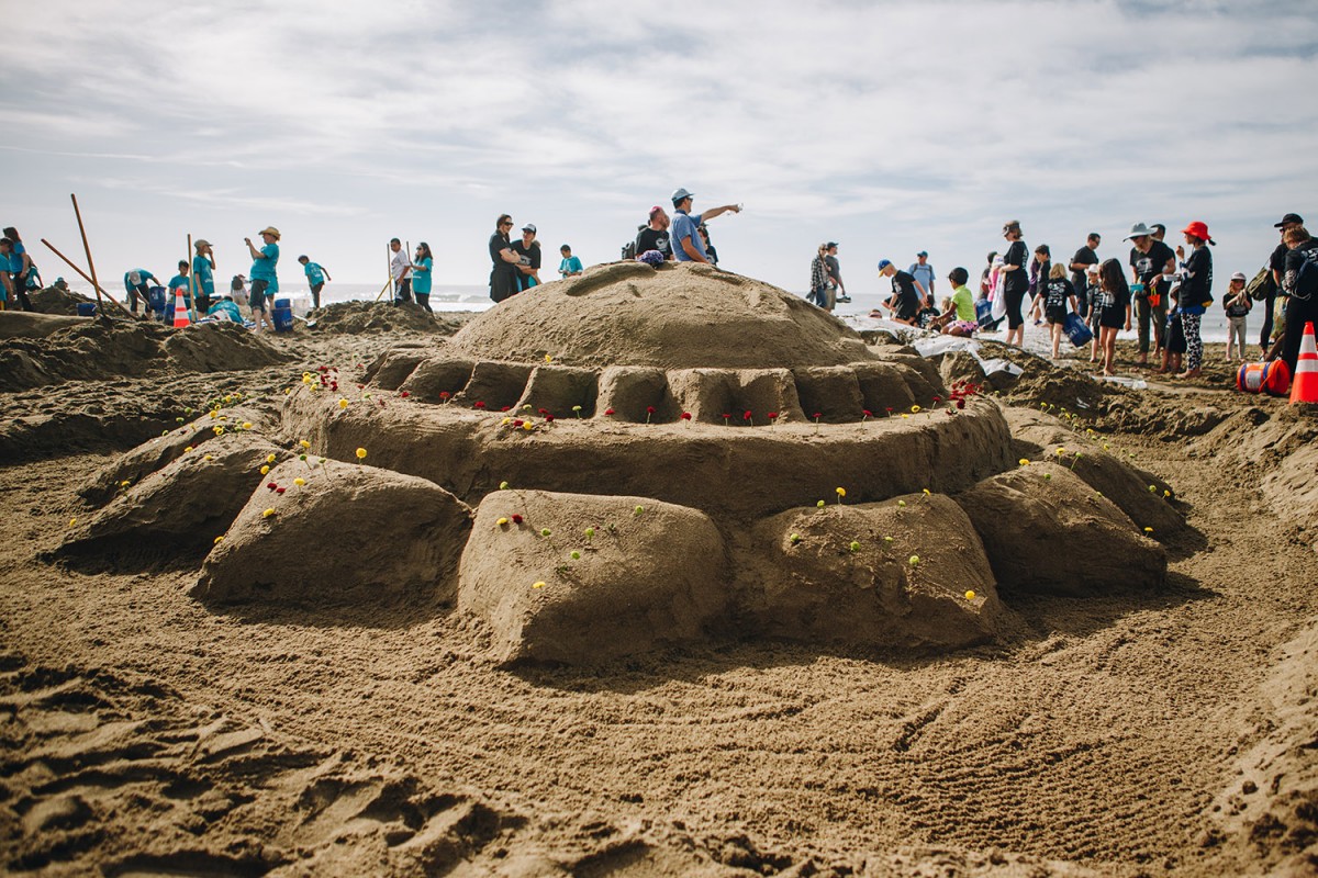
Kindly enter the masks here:
M 287 359 L 287 354 L 235 324 L 171 329 L 154 323 L 83 320 L 46 338 L 0 341 L 0 391 L 170 369 L 258 369 Z

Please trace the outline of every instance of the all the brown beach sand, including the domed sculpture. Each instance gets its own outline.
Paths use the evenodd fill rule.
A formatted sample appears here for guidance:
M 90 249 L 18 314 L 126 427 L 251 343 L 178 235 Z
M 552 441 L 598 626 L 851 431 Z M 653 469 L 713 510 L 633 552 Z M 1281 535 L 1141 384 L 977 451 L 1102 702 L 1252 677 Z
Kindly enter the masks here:
M 1173 382 L 1136 370 L 1133 346 L 1123 344 L 1120 374 L 1148 383 L 1137 391 L 1095 380 L 1087 351 L 1049 363 L 992 342 L 982 357 L 1006 358 L 1020 375 L 986 376 L 966 354 L 921 365 L 909 348 L 870 333 L 862 340 L 804 303 L 780 301 L 767 284 L 684 267 L 656 272 L 654 283 L 670 286 L 651 291 L 647 276 L 631 274 L 650 269 L 590 269 L 571 287 L 546 284 L 535 294 L 544 296 L 539 312 L 518 301 L 530 294 L 434 321 L 343 303 L 320 312 L 314 329 L 261 337 L 54 316 L 20 325 L 18 315 L 0 313 L 4 867 L 527 878 L 1318 874 L 1314 405 L 1236 392 L 1222 345 L 1207 345 L 1202 379 Z M 666 323 L 672 309 L 663 296 L 725 292 L 778 323 L 760 328 L 741 312 L 725 324 Z M 521 323 L 498 323 L 500 311 Z M 490 363 L 523 365 L 517 394 L 531 380 L 530 395 L 509 396 L 511 404 L 534 398 L 539 379 L 527 374 L 546 365 L 561 365 L 561 387 L 598 375 L 598 396 L 583 398 L 581 417 L 567 405 L 552 421 L 531 412 L 534 429 L 513 436 L 502 420 L 518 411 L 494 411 L 496 390 L 473 400 L 467 378 L 438 378 L 455 362 L 474 363 L 476 375 L 493 375 Z M 857 362 L 900 369 L 904 387 L 916 390 L 896 411 L 875 409 L 870 373 Z M 766 421 L 770 403 L 758 400 L 783 399 L 772 395 L 782 391 L 757 390 L 768 378 L 746 375 L 770 367 L 796 370 L 789 395 L 799 401 Z M 642 399 L 634 388 L 645 369 L 667 375 L 664 399 L 675 407 L 647 415 L 642 404 L 625 419 L 623 403 L 608 400 Z M 829 390 L 840 373 L 861 387 L 854 400 L 837 401 L 841 391 Z M 568 394 L 550 387 L 552 370 L 534 374 L 544 399 Z M 730 374 L 739 378 L 720 390 L 720 375 Z M 490 388 L 511 380 L 500 375 Z M 967 384 L 977 390 L 958 409 L 957 388 Z M 759 392 L 767 395 L 745 408 L 763 425 L 729 425 L 726 415 L 741 419 L 742 405 L 724 411 L 720 400 L 731 408 Z M 489 411 L 476 405 L 486 400 Z M 214 438 L 212 411 L 228 424 Z M 268 446 L 272 469 L 256 475 Z M 369 457 L 355 458 L 358 446 Z M 891 473 L 886 450 L 903 455 Z M 229 502 L 223 490 L 170 499 L 181 496 L 170 494 L 182 490 L 178 467 L 203 452 L 214 466 L 231 453 L 254 461 L 244 463 L 252 471 L 228 521 L 214 523 Z M 299 453 L 310 459 L 299 463 Z M 731 478 L 738 454 L 763 479 Z M 328 462 L 318 469 L 320 458 Z M 816 475 L 797 463 L 811 459 L 833 470 Z M 1106 469 L 1086 471 L 1099 461 Z M 116 480 L 129 465 L 133 475 Z M 219 478 L 207 475 L 214 466 L 195 466 L 195 478 Z M 452 558 L 409 554 L 410 540 L 448 538 L 424 530 L 423 512 L 411 511 L 430 500 L 416 500 L 361 507 L 360 519 L 297 519 L 265 562 L 307 566 L 315 577 L 302 591 L 260 584 L 253 534 L 273 527 L 260 507 L 291 523 L 299 490 L 337 498 L 356 484 L 355 473 L 372 469 L 380 479 L 406 479 L 398 491 L 451 495 L 444 508 L 461 509 L 461 527 L 472 528 L 461 575 L 461 542 Z M 1094 488 L 1090 477 L 1118 471 L 1148 496 Z M 294 475 L 308 484 L 294 487 Z M 1007 480 L 1027 478 L 1048 480 Z M 289 494 L 275 498 L 266 479 Z M 498 490 L 503 479 L 507 491 Z M 834 482 L 851 486 L 845 504 L 829 487 L 833 517 L 809 519 L 820 486 Z M 1082 586 L 1025 588 L 996 575 L 991 528 L 967 500 L 987 482 L 1016 504 L 1019 521 L 1058 517 L 1032 499 L 1040 491 L 1065 488 L 1102 505 L 1094 519 L 1064 523 L 1072 536 L 1037 545 L 1012 537 L 1036 567 L 1074 570 Z M 377 484 L 389 487 L 364 482 L 353 496 Z M 921 486 L 931 488 L 927 512 Z M 559 653 L 532 640 L 532 623 L 554 621 L 534 615 L 538 604 L 517 638 L 498 615 L 514 598 L 496 595 L 501 609 L 488 609 L 464 590 L 477 583 L 489 594 L 513 578 L 507 571 L 526 574 L 518 595 L 532 594 L 535 577 L 548 582 L 546 594 L 559 587 L 554 574 L 567 578 L 568 562 L 536 567 L 542 544 L 509 549 L 500 540 L 511 538 L 510 525 L 486 519 L 510 515 L 493 503 L 515 499 L 522 505 L 509 509 L 532 517 L 546 496 L 560 495 L 604 498 L 571 507 L 576 517 L 564 512 L 573 534 L 621 498 L 625 509 L 610 527 L 654 542 L 638 555 L 610 548 L 604 524 L 588 541 L 565 538 L 568 525 L 555 524 L 542 542 L 561 540 L 556 557 L 608 558 L 605 573 L 589 575 L 627 579 L 637 600 L 648 599 L 642 586 L 681 581 L 692 606 L 714 592 L 722 603 L 701 609 L 695 627 L 679 625 L 685 617 L 676 611 L 676 621 L 663 615 L 672 636 L 641 648 L 645 634 L 610 628 L 622 624 L 626 599 L 601 591 L 590 624 L 558 619 L 577 652 L 544 661 Z M 1145 520 L 1124 517 L 1152 503 Z M 633 504 L 645 512 L 629 515 Z M 842 612 L 851 606 L 830 596 L 791 615 L 774 604 L 782 594 L 764 583 L 805 569 L 789 566 L 797 540 L 778 534 L 795 528 L 809 548 L 853 507 L 873 521 L 903 521 L 917 509 L 931 516 L 905 530 L 874 530 L 874 549 L 857 537 L 850 553 L 875 553 L 866 563 L 879 583 L 891 561 L 879 534 L 896 534 L 898 545 L 923 540 L 896 554 L 904 567 L 907 554 L 920 555 L 919 567 L 912 554 L 900 573 L 911 594 L 921 582 L 948 583 L 950 599 L 929 599 L 946 613 L 937 625 L 921 628 L 903 611 L 891 631 L 862 642 L 863 632 L 844 636 L 844 616 L 878 612 L 871 607 Z M 709 538 L 722 548 L 700 548 L 699 523 L 683 517 L 691 509 L 712 523 Z M 170 515 L 207 524 L 174 537 Z M 645 516 L 662 515 L 672 516 L 671 529 L 639 533 Z M 782 524 L 784 515 L 817 530 Z M 1094 542 L 1114 516 L 1133 521 L 1130 542 Z M 1126 548 L 1108 558 L 1104 545 Z M 378 600 L 339 591 L 391 546 L 407 575 L 430 563 L 452 582 L 420 577 Z M 1133 565 L 1136 552 L 1161 559 L 1156 584 L 1094 573 Z M 987 557 L 991 570 L 975 573 L 970 553 Z M 854 563 L 845 550 L 825 555 L 812 563 Z M 726 573 L 701 573 L 725 562 Z M 971 577 L 985 583 L 978 603 L 953 600 L 969 594 Z M 577 659 L 592 653 L 601 659 Z

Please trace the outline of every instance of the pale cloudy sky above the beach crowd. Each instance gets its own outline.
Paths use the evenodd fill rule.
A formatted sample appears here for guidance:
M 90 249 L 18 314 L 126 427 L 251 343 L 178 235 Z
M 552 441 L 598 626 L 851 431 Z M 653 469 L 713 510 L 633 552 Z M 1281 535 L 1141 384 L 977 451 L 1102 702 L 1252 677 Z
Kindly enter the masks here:
M 83 262 L 70 192 L 115 290 L 188 233 L 246 272 L 268 224 L 286 288 L 299 253 L 382 283 L 391 236 L 485 283 L 505 211 L 604 262 L 679 186 L 745 203 L 724 267 L 797 291 L 830 238 L 865 292 L 919 249 L 977 272 L 1007 219 L 1103 257 L 1199 219 L 1222 283 L 1318 225 L 1313 0 L 0 1 L 0 222 L 47 279 L 41 237 Z

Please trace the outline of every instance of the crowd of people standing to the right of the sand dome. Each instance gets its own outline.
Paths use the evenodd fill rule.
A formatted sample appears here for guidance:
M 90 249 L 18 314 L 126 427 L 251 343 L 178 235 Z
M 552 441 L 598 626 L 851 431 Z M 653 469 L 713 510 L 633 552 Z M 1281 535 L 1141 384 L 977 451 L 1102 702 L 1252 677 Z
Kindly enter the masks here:
M 1255 303 L 1263 303 L 1261 357 L 1280 358 L 1293 371 L 1304 325 L 1318 316 L 1318 242 L 1296 213 L 1284 216 L 1275 228 L 1282 241 L 1268 266 L 1253 280 L 1232 274 L 1222 297 L 1228 323 L 1226 357 L 1247 359 L 1247 316 Z M 953 294 L 941 309 L 934 307 L 936 274 L 929 254 L 921 250 L 905 271 L 891 259 L 879 261 L 879 275 L 888 278 L 892 292 L 883 304 L 887 313 L 874 311 L 871 316 L 954 336 L 996 329 L 1006 321 L 1006 342 L 1021 345 L 1028 311 L 1036 324 L 1046 323 L 1053 358 L 1061 353 L 1062 337 L 1069 336 L 1078 345 L 1090 345 L 1090 362 L 1102 361 L 1106 375 L 1115 374 L 1116 334 L 1137 326 L 1137 365 L 1195 378 L 1203 363 L 1201 321 L 1215 301 L 1209 247 L 1217 242 L 1201 220 L 1189 222 L 1181 234 L 1184 244 L 1173 249 L 1165 241 L 1165 225 L 1136 222 L 1123 238 L 1131 247 L 1123 262 L 1101 261 L 1102 236 L 1093 232 L 1069 262 L 1054 263 L 1050 247 L 1043 244 L 1031 251 L 1020 222 L 1011 220 L 1002 228 L 1007 246 L 988 254 L 978 295 L 966 288 L 967 271 L 958 267 L 948 276 Z M 811 262 L 809 300 L 825 311 L 833 309 L 833 291 L 841 288 L 836 258 L 829 263 L 836 254 L 837 244 L 829 241 Z

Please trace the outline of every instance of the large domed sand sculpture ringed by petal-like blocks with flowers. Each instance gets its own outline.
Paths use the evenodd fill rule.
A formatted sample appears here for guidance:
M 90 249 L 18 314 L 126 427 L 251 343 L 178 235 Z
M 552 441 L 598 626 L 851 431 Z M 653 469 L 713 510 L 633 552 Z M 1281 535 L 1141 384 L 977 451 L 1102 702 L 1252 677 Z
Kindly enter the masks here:
M 217 611 L 456 609 L 502 661 L 567 663 L 718 637 L 954 649 L 999 631 L 999 590 L 1160 584 L 1169 488 L 982 391 L 768 284 L 614 263 L 307 373 L 277 426 L 220 404 L 152 440 L 87 487 L 105 505 L 62 554 L 152 545 L 141 509 L 204 484 L 223 503 L 185 515 L 215 532 L 194 595 Z M 339 538 L 298 563 L 308 529 Z M 1104 565 L 1069 578 L 1066 540 Z

